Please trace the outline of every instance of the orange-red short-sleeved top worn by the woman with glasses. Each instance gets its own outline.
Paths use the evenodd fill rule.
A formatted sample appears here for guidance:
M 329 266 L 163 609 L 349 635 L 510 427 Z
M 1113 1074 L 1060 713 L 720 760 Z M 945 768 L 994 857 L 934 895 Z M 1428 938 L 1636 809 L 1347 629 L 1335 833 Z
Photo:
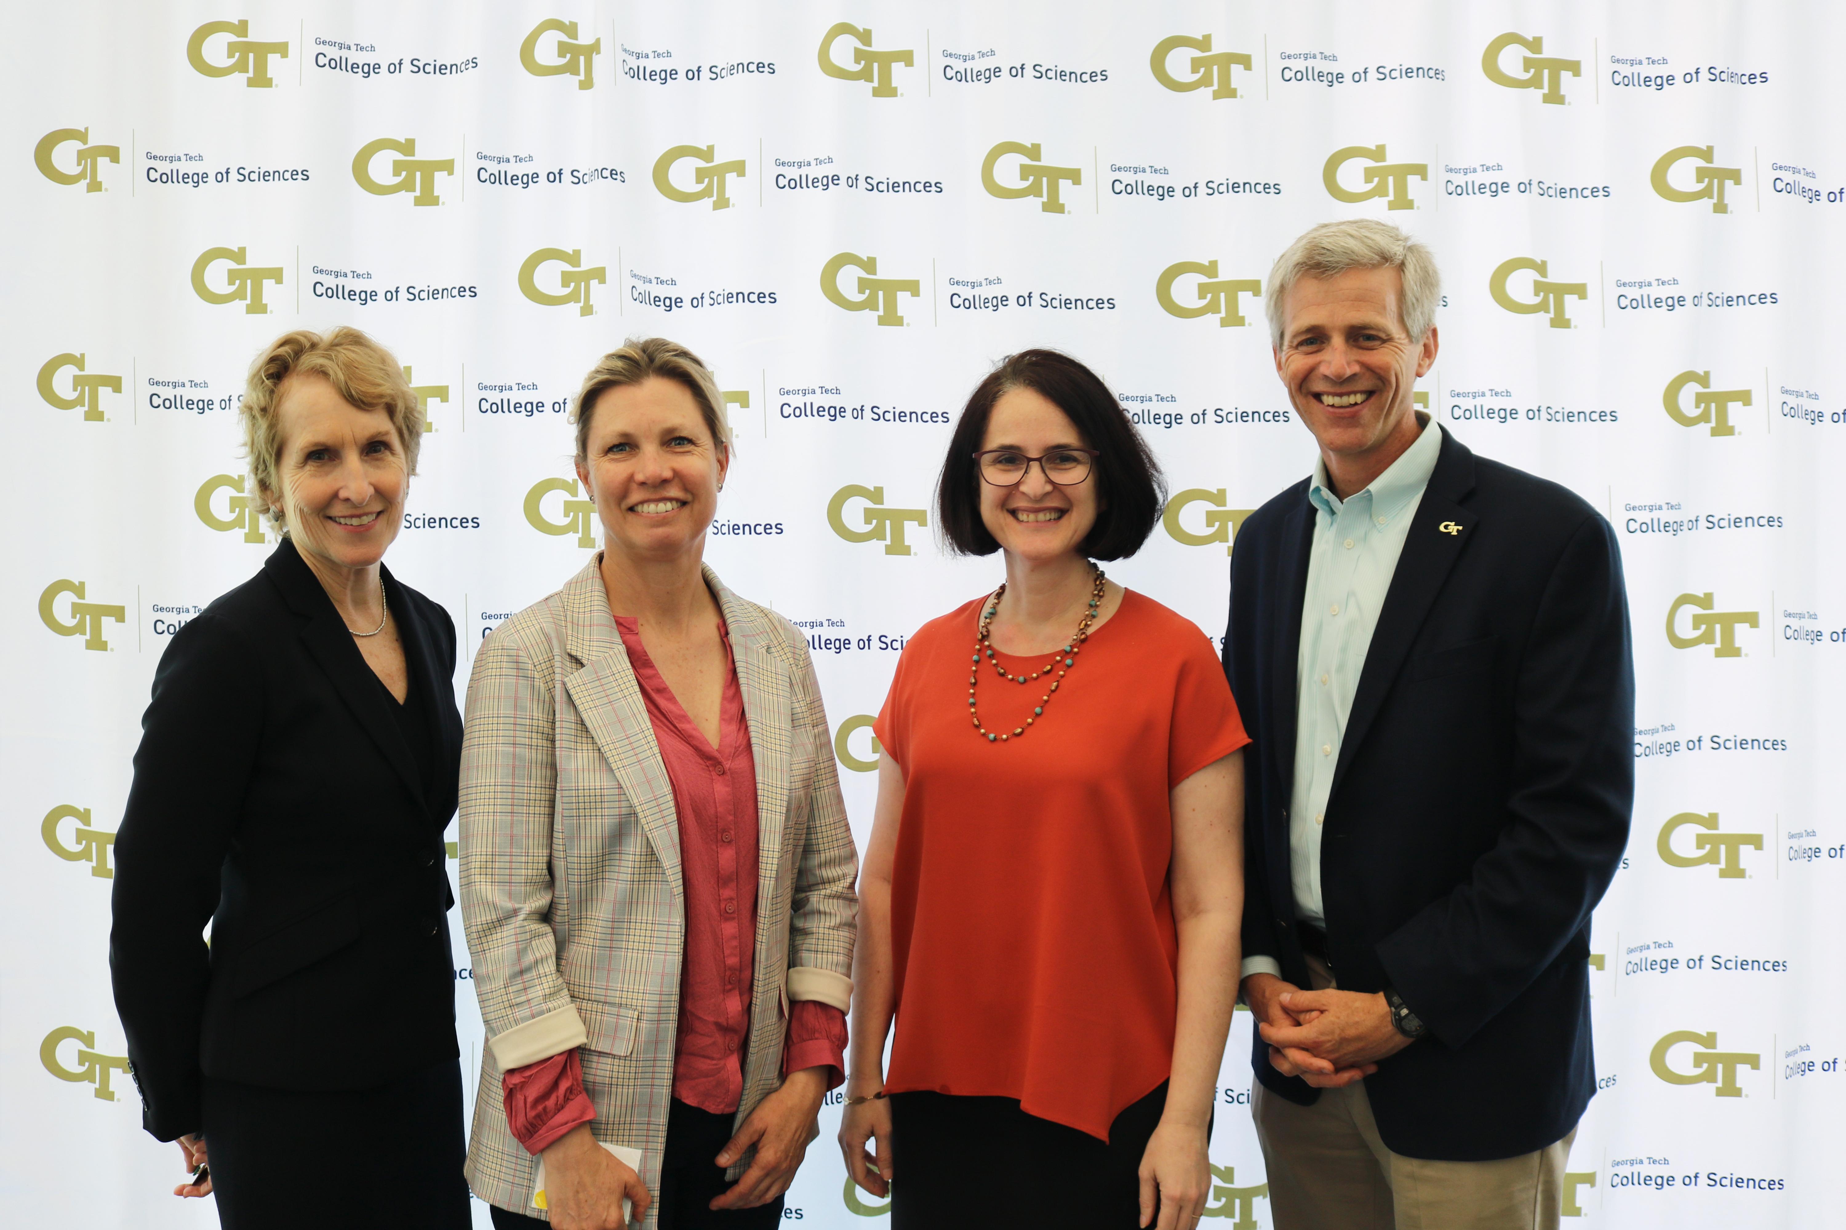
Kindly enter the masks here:
M 1250 736 L 1205 634 L 1128 592 L 1045 716 L 989 743 L 967 712 L 982 601 L 910 638 L 873 727 L 905 771 L 884 1086 L 1017 1097 L 1108 1140 L 1172 1070 L 1167 791 Z M 1049 660 L 999 655 L 1010 675 Z M 1041 695 L 980 668 L 988 730 Z

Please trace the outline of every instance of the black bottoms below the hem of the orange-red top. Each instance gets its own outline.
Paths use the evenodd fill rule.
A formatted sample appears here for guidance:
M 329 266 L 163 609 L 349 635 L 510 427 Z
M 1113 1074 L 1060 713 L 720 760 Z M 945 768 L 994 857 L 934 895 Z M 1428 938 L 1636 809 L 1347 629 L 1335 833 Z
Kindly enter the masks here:
M 892 1094 L 892 1230 L 1133 1230 L 1141 1154 L 1165 1108 L 1161 1081 L 1104 1143 L 1015 1097 Z

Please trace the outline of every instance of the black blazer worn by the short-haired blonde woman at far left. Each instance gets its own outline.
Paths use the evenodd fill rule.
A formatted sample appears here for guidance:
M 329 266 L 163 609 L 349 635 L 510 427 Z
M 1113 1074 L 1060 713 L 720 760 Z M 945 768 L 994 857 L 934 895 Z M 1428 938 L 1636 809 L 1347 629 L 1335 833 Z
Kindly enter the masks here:
M 432 793 L 290 540 L 161 656 L 109 933 L 159 1140 L 199 1130 L 201 1075 L 366 1088 L 460 1053 L 443 852 L 462 763 L 454 623 L 390 570 L 384 586 L 430 714 Z

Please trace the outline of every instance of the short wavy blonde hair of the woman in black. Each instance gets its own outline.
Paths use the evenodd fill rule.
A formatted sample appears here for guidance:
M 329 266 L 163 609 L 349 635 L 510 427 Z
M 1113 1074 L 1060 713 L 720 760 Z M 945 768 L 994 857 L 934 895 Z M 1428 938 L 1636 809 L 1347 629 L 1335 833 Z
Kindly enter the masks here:
M 282 334 L 249 367 L 244 402 L 244 454 L 249 459 L 251 498 L 262 500 L 277 533 L 288 533 L 288 514 L 281 505 L 277 467 L 282 459 L 282 428 L 277 400 L 292 376 L 321 376 L 340 396 L 360 409 L 382 411 L 404 446 L 404 472 L 417 472 L 423 444 L 423 409 L 404 380 L 397 358 L 364 332 L 340 325 L 321 336 L 306 328 Z

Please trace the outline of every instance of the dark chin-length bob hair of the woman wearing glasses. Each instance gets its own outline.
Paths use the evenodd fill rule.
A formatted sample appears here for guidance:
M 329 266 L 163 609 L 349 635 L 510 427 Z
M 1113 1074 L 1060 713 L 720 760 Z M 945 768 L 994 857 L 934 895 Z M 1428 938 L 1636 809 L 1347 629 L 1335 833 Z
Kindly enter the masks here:
M 1089 559 L 1126 559 L 1141 550 L 1167 503 L 1167 481 L 1141 432 L 1108 385 L 1069 354 L 1021 350 L 988 373 L 954 424 L 949 457 L 936 481 L 936 524 L 960 555 L 993 555 L 1001 544 L 980 520 L 980 468 L 975 454 L 988 435 L 993 404 L 1013 389 L 1032 389 L 1061 409 L 1084 444 L 1095 448 L 1097 524 L 1078 544 Z

